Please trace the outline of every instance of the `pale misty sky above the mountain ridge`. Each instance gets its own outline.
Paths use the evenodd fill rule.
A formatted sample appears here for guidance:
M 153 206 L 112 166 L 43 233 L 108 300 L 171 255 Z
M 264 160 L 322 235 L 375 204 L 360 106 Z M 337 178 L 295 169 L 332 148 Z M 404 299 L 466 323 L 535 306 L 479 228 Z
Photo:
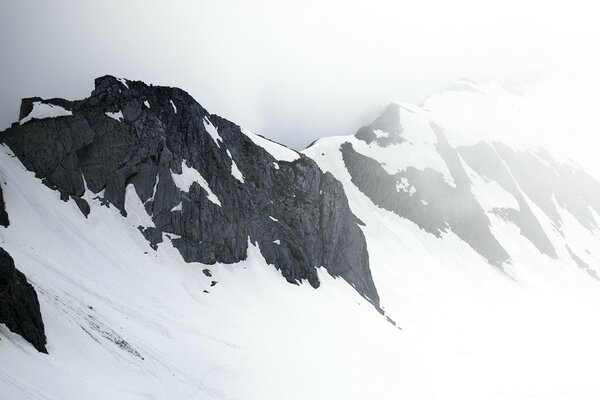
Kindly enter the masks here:
M 559 102 L 585 104 L 598 10 L 559 3 L 0 0 L 0 129 L 22 97 L 82 98 L 104 74 L 181 87 L 295 148 L 462 77 L 560 77 L 583 94 Z

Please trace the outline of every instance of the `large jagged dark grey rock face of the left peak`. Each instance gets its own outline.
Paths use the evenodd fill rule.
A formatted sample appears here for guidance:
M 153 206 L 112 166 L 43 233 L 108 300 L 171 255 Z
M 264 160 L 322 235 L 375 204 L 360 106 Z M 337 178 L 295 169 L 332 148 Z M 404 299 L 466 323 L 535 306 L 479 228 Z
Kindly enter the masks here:
M 0 141 L 85 215 L 86 188 L 126 215 L 133 185 L 155 225 L 140 227 L 153 246 L 170 234 L 188 262 L 234 263 L 246 258 L 250 241 L 289 282 L 317 287 L 316 268 L 324 266 L 379 307 L 366 242 L 342 185 L 312 160 L 275 159 L 177 88 L 105 76 L 87 99 L 46 102 L 73 115 L 13 126 Z M 199 182 L 178 186 L 178 175 L 190 169 L 212 193 Z M 243 182 L 233 174 L 238 169 Z

